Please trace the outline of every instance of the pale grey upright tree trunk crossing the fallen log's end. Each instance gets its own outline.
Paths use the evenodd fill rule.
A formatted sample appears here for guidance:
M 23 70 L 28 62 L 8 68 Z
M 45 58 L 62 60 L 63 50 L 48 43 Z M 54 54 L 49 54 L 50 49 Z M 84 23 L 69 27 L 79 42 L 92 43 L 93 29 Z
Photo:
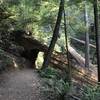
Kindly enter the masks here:
M 87 14 L 87 4 L 85 1 L 85 8 L 84 8 L 84 19 L 85 19 L 85 26 L 86 26 L 86 32 L 85 32 L 85 67 L 89 68 L 89 62 L 90 62 L 90 46 L 89 46 L 89 25 L 88 25 L 88 14 Z

